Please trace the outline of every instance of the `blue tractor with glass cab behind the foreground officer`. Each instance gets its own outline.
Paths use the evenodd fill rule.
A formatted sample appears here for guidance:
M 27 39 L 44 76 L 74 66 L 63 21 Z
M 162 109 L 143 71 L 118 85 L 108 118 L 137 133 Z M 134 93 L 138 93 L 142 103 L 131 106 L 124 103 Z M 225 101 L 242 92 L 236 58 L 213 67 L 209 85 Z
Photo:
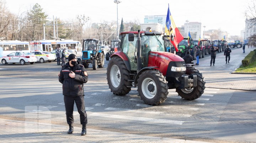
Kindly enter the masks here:
M 98 39 L 84 39 L 82 42 L 82 65 L 85 68 L 89 67 L 89 63 L 92 63 L 92 69 L 96 70 L 98 68 L 104 67 L 104 57 L 106 53 L 99 47 Z

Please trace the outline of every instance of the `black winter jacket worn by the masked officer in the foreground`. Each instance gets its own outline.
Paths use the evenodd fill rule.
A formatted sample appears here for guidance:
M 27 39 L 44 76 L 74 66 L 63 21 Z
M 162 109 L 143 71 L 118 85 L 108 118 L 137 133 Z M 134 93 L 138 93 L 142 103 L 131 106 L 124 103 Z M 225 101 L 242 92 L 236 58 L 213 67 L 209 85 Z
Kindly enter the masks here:
M 59 82 L 62 83 L 63 95 L 65 96 L 81 96 L 84 95 L 84 83 L 88 80 L 88 75 L 83 65 L 79 62 L 73 67 L 75 78 L 70 78 L 71 67 L 69 62 L 63 65 L 59 74 Z

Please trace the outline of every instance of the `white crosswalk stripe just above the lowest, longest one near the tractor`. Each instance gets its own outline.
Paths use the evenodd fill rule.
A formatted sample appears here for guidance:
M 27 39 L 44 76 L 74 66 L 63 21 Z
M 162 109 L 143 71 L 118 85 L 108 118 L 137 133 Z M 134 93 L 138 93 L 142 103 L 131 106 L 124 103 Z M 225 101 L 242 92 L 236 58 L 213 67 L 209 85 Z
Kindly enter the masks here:
M 164 113 L 164 112 L 132 110 L 132 109 L 122 109 L 122 108 L 106 108 L 105 110 L 127 111 L 127 112 L 135 112 L 135 113 L 158 114 L 158 115 L 169 115 L 169 116 L 183 116 L 183 117 L 191 117 L 192 116 L 190 114 L 169 114 L 169 113 Z

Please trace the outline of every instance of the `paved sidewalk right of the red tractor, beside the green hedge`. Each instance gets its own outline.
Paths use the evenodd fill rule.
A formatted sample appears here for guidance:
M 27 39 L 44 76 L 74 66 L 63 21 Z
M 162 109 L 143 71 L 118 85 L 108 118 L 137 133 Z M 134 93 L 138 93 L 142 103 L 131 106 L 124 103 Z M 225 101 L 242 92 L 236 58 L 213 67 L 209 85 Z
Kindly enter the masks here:
M 203 73 L 206 87 L 256 91 L 256 74 L 231 74 L 242 64 L 242 59 L 255 48 L 231 48 L 230 61 L 226 64 L 224 52 L 217 53 L 215 65 L 210 66 L 210 56 L 199 59 L 196 68 Z M 196 60 L 194 60 L 196 63 Z

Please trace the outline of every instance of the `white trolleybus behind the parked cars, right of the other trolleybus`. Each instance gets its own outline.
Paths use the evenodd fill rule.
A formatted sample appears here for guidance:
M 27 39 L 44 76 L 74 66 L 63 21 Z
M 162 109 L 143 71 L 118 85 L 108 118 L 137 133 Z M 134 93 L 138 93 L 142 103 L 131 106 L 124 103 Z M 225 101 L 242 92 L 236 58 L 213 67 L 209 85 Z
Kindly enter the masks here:
M 33 51 L 47 51 L 51 52 L 53 50 L 68 49 L 77 54 L 81 51 L 81 43 L 74 40 L 39 40 L 30 41 L 31 52 Z

